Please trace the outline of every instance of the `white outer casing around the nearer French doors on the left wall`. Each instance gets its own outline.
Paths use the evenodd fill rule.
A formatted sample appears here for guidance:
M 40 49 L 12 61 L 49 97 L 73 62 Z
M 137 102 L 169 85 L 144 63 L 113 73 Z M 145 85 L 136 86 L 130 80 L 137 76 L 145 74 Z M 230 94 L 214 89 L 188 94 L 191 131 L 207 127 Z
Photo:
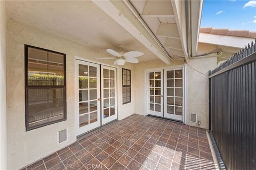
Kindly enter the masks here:
M 87 59 L 87 58 L 84 58 L 84 57 L 79 57 L 79 56 L 75 56 L 75 58 L 74 58 L 74 69 L 75 69 L 75 75 L 77 76 L 78 75 L 78 68 L 77 68 L 77 65 L 76 65 L 76 61 L 84 61 L 84 62 L 89 62 L 89 63 L 94 63 L 94 64 L 99 64 L 99 65 L 105 65 L 105 66 L 109 66 L 109 67 L 113 67 L 113 68 L 115 68 L 116 69 L 116 71 L 117 71 L 117 89 L 119 90 L 119 87 L 121 87 L 121 84 L 120 84 L 120 81 L 118 81 L 119 80 L 119 70 L 120 70 L 120 68 L 119 68 L 119 66 L 116 66 L 116 65 L 110 65 L 110 64 L 106 64 L 106 63 L 102 63 L 102 62 L 95 62 L 95 61 L 93 61 L 93 60 L 89 60 L 89 59 Z M 76 76 L 75 76 L 75 79 L 74 79 L 74 83 L 75 83 L 75 107 L 74 107 L 74 113 L 75 113 L 75 118 L 74 118 L 74 123 L 75 123 L 75 126 L 76 126 L 76 128 L 75 128 L 75 134 L 76 134 L 76 137 L 78 136 L 78 135 L 80 135 L 79 134 L 79 131 L 78 131 L 78 129 L 79 129 L 79 117 L 77 118 L 77 115 L 78 115 L 78 112 L 77 112 L 77 106 L 78 106 L 78 100 L 79 100 L 79 95 L 76 93 L 76 91 L 78 91 L 78 81 L 77 81 L 77 79 L 76 79 Z M 118 91 L 117 91 L 118 92 Z M 121 100 L 121 96 L 120 95 L 118 95 L 117 94 L 117 100 L 118 101 L 122 101 Z M 120 113 L 120 107 L 118 107 L 118 105 L 119 105 L 119 103 L 118 103 L 118 101 L 117 101 L 117 109 L 116 109 L 116 111 L 117 111 L 117 119 L 119 120 L 119 113 Z

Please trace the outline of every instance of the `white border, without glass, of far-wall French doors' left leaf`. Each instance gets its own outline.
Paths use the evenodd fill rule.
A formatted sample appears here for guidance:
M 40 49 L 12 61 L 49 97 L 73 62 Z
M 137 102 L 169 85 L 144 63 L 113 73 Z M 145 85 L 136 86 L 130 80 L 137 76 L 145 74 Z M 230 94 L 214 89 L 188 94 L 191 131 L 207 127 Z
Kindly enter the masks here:
M 150 94 L 149 94 L 149 72 L 161 72 L 161 112 L 156 112 L 156 111 L 151 111 L 150 110 Z M 150 69 L 147 71 L 147 100 L 146 100 L 146 107 L 147 107 L 147 114 L 149 115 L 154 115 L 154 116 L 159 116 L 159 117 L 163 117 L 163 90 L 164 90 L 164 87 L 163 87 L 163 69 Z M 155 82 L 154 82 L 155 83 Z M 155 86 L 154 86 L 155 87 Z M 155 92 L 155 90 L 154 90 Z M 155 95 L 154 95 L 155 96 Z M 154 98 L 155 100 L 155 98 Z M 155 101 L 154 101 L 155 103 Z

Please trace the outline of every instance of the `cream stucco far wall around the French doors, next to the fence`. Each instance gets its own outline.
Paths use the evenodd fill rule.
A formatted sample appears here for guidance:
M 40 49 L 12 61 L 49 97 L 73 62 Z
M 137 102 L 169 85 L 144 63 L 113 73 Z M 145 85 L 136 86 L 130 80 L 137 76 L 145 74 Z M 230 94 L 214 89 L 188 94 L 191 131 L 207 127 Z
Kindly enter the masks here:
M 146 70 L 183 65 L 183 61 L 173 60 L 166 65 L 160 60 L 135 65 L 135 113 L 146 114 Z M 190 59 L 187 63 L 187 124 L 208 129 L 208 71 L 215 68 L 217 58 Z M 195 68 L 192 69 L 192 68 Z M 197 71 L 196 71 L 197 70 Z M 202 73 L 199 73 L 202 72 Z M 205 74 L 205 75 L 204 75 Z M 189 113 L 197 114 L 201 125 L 189 121 Z

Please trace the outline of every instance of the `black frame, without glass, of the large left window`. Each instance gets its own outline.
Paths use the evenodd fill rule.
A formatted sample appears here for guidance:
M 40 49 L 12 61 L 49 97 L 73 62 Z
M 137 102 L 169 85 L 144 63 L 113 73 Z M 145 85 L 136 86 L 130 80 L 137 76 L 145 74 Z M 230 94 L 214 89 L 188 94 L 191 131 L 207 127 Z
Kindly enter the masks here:
M 62 121 L 66 121 L 67 120 L 67 83 L 66 83 L 66 54 L 64 53 L 60 53 L 60 52 L 55 52 L 53 50 L 49 50 L 49 49 L 45 49 L 45 48 L 40 48 L 40 47 L 35 47 L 35 46 L 31 46 L 31 45 L 27 45 L 25 44 L 25 125 L 26 125 L 26 131 L 30 131 L 33 129 L 37 129 L 37 128 L 41 128 L 43 126 L 47 126 L 47 125 L 51 125 L 54 123 L 58 123 L 58 122 L 62 122 Z M 64 85 L 63 86 L 29 86 L 28 85 L 28 48 L 34 48 L 34 49 L 39 49 L 39 50 L 44 50 L 46 52 L 51 52 L 51 53 L 55 53 L 55 54 L 60 54 L 63 55 L 63 82 Z M 64 108 L 63 108 L 63 118 L 60 120 L 56 120 L 56 121 L 52 121 L 52 122 L 48 122 L 48 123 L 44 123 L 41 125 L 36 125 L 33 127 L 29 128 L 29 120 L 28 120 L 28 90 L 29 89 L 64 89 L 63 91 L 63 103 L 64 103 Z

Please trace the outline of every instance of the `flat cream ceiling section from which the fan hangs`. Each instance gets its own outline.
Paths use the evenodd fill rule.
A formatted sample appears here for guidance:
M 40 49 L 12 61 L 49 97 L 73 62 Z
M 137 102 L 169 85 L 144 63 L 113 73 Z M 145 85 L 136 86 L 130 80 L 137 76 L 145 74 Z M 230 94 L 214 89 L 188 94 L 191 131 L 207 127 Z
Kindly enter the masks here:
M 18 22 L 102 53 L 106 53 L 106 48 L 118 50 L 117 44 L 124 44 L 124 51 L 145 54 L 138 57 L 140 62 L 158 59 L 91 1 L 6 1 L 6 11 L 9 18 Z

